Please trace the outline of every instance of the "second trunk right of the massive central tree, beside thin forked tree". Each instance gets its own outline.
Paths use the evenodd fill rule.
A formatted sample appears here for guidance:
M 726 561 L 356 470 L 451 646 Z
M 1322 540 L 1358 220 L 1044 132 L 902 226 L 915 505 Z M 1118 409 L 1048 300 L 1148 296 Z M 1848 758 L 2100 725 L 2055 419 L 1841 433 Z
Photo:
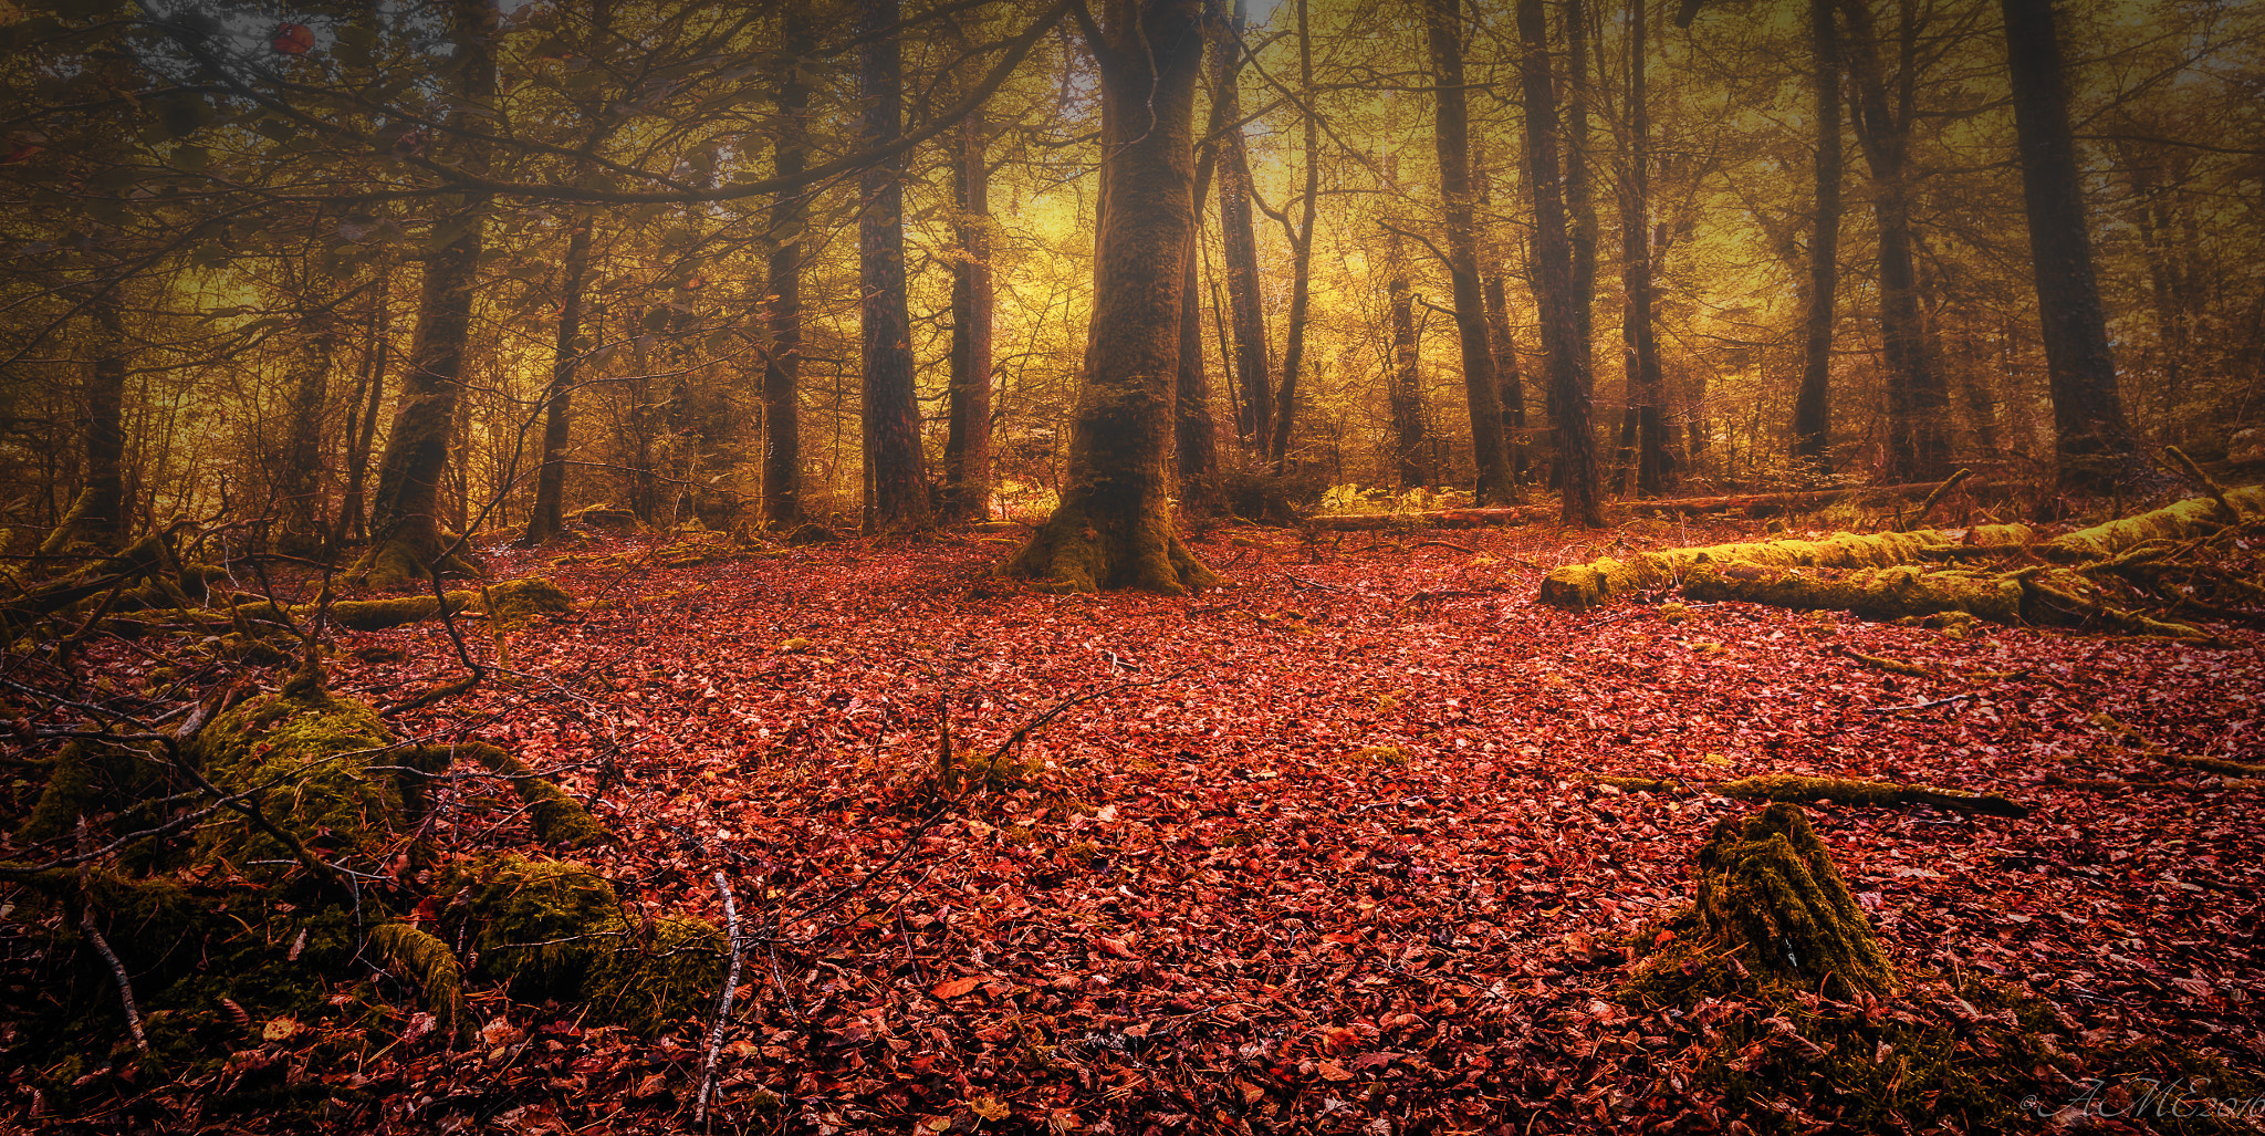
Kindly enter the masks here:
M 1241 406 L 1234 433 L 1243 444 L 1264 451 L 1273 426 L 1273 367 L 1266 361 L 1266 313 L 1259 308 L 1259 245 L 1250 222 L 1250 154 L 1243 150 L 1243 102 L 1237 82 L 1243 70 L 1241 34 L 1243 2 L 1234 0 L 1232 36 L 1221 43 L 1214 93 L 1221 122 L 1230 129 L 1219 138 L 1219 240 L 1228 261 L 1228 322 L 1234 329 L 1234 388 Z

